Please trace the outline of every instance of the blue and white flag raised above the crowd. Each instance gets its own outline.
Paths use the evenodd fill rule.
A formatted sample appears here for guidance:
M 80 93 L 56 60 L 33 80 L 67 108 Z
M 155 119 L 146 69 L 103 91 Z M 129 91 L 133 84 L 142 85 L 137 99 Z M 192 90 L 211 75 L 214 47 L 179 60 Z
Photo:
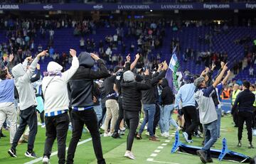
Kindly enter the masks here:
M 183 72 L 176 56 L 176 48 L 174 48 L 174 52 L 171 56 L 169 68 L 166 72 L 166 79 L 169 83 L 169 86 L 171 87 L 172 92 L 177 94 L 178 89 L 181 87 L 181 82 L 183 82 Z

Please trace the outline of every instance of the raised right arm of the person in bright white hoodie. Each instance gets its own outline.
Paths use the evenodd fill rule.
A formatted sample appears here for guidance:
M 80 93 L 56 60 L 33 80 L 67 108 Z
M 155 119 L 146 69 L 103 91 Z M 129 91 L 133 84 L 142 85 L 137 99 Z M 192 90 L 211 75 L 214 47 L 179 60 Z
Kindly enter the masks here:
M 76 56 L 76 51 L 73 49 L 70 49 L 70 55 L 73 58 L 72 65 L 70 69 L 63 72 L 63 75 L 61 76 L 61 79 L 63 79 L 65 82 L 68 82 L 68 80 L 70 80 L 70 78 L 73 77 L 73 75 L 75 74 L 75 72 L 78 70 L 78 67 L 79 67 L 79 61 Z

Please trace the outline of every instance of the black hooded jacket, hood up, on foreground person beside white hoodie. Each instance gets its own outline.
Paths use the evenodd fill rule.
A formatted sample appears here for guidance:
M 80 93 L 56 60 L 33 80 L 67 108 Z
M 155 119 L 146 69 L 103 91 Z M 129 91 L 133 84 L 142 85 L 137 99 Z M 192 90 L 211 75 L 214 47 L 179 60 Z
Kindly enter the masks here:
M 90 54 L 79 56 L 78 60 L 80 66 L 68 82 L 71 105 L 75 107 L 93 106 L 93 80 L 109 77 L 110 73 L 101 59 L 97 60 L 99 70 L 92 70 L 91 67 L 94 65 L 94 60 L 92 61 Z

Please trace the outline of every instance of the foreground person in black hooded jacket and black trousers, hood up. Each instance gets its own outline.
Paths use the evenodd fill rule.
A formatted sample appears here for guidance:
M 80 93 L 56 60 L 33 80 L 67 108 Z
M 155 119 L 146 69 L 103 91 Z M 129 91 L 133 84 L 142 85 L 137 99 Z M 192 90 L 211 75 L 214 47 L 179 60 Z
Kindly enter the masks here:
M 75 75 L 68 82 L 70 101 L 72 104 L 73 133 L 68 146 L 67 164 L 73 163 L 75 149 L 82 136 L 83 126 L 86 125 L 92 136 L 92 145 L 98 164 L 105 164 L 100 141 L 100 131 L 97 124 L 97 115 L 93 109 L 93 80 L 109 77 L 110 73 L 101 60 L 95 54 L 80 53 L 78 56 L 79 67 Z M 95 61 L 99 64 L 99 70 L 92 70 Z

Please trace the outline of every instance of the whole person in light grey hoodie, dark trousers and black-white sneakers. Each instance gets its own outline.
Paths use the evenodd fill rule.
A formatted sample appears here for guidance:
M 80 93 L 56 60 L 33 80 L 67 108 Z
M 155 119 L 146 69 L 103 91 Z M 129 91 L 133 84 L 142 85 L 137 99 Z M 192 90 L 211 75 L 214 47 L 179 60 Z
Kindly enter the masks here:
M 15 65 L 12 69 L 12 74 L 14 75 L 14 84 L 17 88 L 19 95 L 20 104 L 20 124 L 14 136 L 14 141 L 9 149 L 8 153 L 11 157 L 17 157 L 16 146 L 18 145 L 18 140 L 28 125 L 30 133 L 28 136 L 28 150 L 25 155 L 28 158 L 36 158 L 36 154 L 33 152 L 33 145 L 36 139 L 37 133 L 37 116 L 36 116 L 36 94 L 33 90 L 31 83 L 31 77 L 36 70 L 36 65 L 41 57 L 46 55 L 47 50 L 43 50 L 39 53 L 33 60 L 31 65 L 26 70 L 26 65 L 19 63 Z M 25 67 L 24 67 L 25 66 Z

